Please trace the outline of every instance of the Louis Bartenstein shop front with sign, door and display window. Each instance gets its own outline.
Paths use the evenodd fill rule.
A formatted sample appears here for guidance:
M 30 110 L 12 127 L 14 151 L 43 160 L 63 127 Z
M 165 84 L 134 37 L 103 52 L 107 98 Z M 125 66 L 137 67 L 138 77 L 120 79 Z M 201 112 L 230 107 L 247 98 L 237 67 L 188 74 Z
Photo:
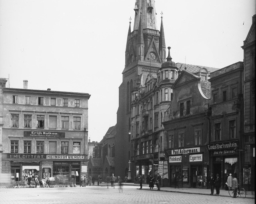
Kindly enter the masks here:
M 239 169 L 239 141 L 218 142 L 208 145 L 210 152 L 211 173 L 219 174 L 221 177 L 221 186 L 225 188 L 225 183 L 229 174 L 236 173 L 240 175 Z

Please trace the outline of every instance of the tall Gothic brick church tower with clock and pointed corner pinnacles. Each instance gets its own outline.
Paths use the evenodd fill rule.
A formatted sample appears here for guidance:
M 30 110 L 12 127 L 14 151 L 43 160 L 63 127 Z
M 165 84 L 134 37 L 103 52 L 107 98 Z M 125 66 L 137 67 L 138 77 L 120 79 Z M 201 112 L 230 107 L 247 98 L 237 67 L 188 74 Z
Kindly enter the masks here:
M 134 156 L 132 138 L 129 134 L 134 132 L 131 130 L 134 120 L 132 101 L 136 100 L 138 92 L 143 92 L 148 74 L 157 78 L 158 70 L 166 58 L 163 19 L 161 17 L 159 31 L 154 0 L 135 0 L 134 12 L 133 31 L 131 31 L 131 22 L 128 28 L 125 66 L 122 72 L 122 84 L 119 87 L 117 111 L 114 173 L 121 178 L 128 175 L 128 162 L 132 162 Z M 130 169 L 133 174 L 133 162 L 130 164 Z M 133 178 L 134 175 L 131 176 Z

